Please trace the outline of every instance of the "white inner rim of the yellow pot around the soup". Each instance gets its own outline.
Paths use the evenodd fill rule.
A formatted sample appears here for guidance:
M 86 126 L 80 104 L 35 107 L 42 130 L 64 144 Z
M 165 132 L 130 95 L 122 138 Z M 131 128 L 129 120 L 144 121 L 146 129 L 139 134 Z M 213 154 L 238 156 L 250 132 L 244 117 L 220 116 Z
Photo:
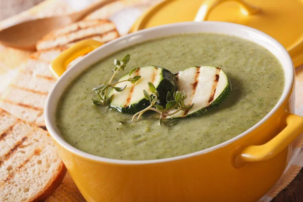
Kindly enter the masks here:
M 252 126 L 245 132 L 237 135 L 236 137 L 225 141 L 223 143 L 220 143 L 218 145 L 215 145 L 213 147 L 196 151 L 195 153 L 178 156 L 178 157 L 172 157 L 167 159 L 160 159 L 160 160 L 143 160 L 143 161 L 130 161 L 130 160 L 115 160 L 115 159 L 108 159 L 104 157 L 98 157 L 94 155 L 90 155 L 88 153 L 85 153 L 84 151 L 81 151 L 69 143 L 67 143 L 63 137 L 60 135 L 60 131 L 56 126 L 55 122 L 55 113 L 57 108 L 58 100 L 65 90 L 66 86 L 70 83 L 71 80 L 73 80 L 76 76 L 78 76 L 84 69 L 88 68 L 90 65 L 96 63 L 97 61 L 101 60 L 102 58 L 105 58 L 108 55 L 111 55 L 119 49 L 140 43 L 142 41 L 155 39 L 159 37 L 174 35 L 174 34 L 182 34 L 182 33 L 200 33 L 200 32 L 210 32 L 210 33 L 221 33 L 221 34 L 228 34 L 232 36 L 238 36 L 244 39 L 248 39 L 250 41 L 254 41 L 263 47 L 267 48 L 271 53 L 273 53 L 277 59 L 280 61 L 280 63 L 283 66 L 284 72 L 285 72 L 285 86 L 283 93 L 276 104 L 276 106 L 261 120 L 259 121 L 255 126 Z M 213 151 L 215 149 L 221 148 L 223 146 L 226 146 L 246 134 L 250 133 L 251 131 L 255 130 L 257 127 L 259 127 L 261 124 L 263 124 L 266 120 L 268 120 L 276 111 L 277 109 L 282 105 L 284 100 L 286 99 L 288 93 L 290 92 L 292 88 L 292 84 L 294 81 L 294 67 L 291 61 L 290 56 L 288 55 L 285 48 L 275 39 L 273 39 L 271 36 L 256 30 L 254 28 L 246 27 L 243 25 L 233 24 L 233 23 L 226 23 L 226 22 L 183 22 L 183 23 L 175 23 L 175 24 L 169 24 L 169 25 L 162 25 L 159 27 L 153 27 L 149 29 L 144 29 L 132 34 L 128 34 L 125 36 L 122 36 L 118 39 L 115 39 L 111 42 L 108 42 L 101 47 L 95 49 L 93 52 L 87 54 L 79 63 L 75 64 L 69 70 L 67 70 L 60 79 L 56 82 L 55 86 L 53 87 L 52 91 L 49 93 L 46 105 L 45 105 L 45 122 L 46 127 L 49 133 L 53 136 L 53 138 L 59 142 L 63 147 L 70 150 L 72 153 L 75 153 L 79 156 L 82 156 L 84 158 L 88 158 L 95 161 L 100 162 L 107 162 L 107 163 L 113 163 L 113 164 L 128 164 L 128 165 L 134 165 L 134 164 L 152 164 L 152 163 L 164 163 L 168 161 L 176 161 L 181 160 L 184 158 L 189 158 L 197 155 L 202 155 L 205 153 L 208 153 L 210 151 Z

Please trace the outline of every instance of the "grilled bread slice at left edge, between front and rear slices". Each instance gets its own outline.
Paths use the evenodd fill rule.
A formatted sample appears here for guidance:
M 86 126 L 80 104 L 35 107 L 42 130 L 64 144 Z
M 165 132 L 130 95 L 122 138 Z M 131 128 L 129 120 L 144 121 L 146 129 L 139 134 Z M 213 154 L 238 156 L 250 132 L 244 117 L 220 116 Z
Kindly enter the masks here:
M 14 116 L 45 128 L 43 110 L 56 82 L 49 63 L 29 60 L 0 97 L 0 107 Z

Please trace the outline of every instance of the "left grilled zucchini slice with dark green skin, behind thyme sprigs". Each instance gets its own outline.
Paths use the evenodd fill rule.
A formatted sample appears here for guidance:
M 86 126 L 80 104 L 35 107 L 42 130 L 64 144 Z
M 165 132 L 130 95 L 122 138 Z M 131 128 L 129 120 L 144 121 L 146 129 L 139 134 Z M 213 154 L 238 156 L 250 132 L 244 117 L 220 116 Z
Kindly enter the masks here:
M 150 102 L 145 99 L 143 90 L 146 90 L 149 94 L 151 93 L 147 82 L 151 82 L 155 85 L 159 92 L 160 103 L 159 105 L 166 105 L 166 95 L 168 91 L 176 89 L 176 77 L 169 70 L 156 67 L 156 66 L 146 66 L 136 69 L 131 77 L 140 75 L 141 78 L 135 83 L 122 82 L 118 83 L 116 87 L 126 88 L 117 92 L 112 89 L 109 96 L 113 95 L 110 106 L 116 108 L 119 112 L 124 114 L 135 114 L 150 105 Z M 129 78 L 129 74 L 124 75 L 119 81 L 126 80 Z

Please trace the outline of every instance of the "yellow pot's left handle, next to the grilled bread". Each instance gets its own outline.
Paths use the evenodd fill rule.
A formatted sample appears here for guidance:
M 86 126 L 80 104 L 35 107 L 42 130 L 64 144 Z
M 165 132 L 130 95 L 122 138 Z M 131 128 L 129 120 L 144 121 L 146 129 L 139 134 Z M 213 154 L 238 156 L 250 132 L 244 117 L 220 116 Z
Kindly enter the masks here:
M 103 44 L 103 42 L 92 39 L 86 39 L 76 43 L 72 47 L 66 49 L 51 63 L 51 71 L 58 79 L 66 71 L 66 67 L 70 62 L 72 62 L 79 56 L 88 54 L 89 52 L 93 51 L 94 49 Z

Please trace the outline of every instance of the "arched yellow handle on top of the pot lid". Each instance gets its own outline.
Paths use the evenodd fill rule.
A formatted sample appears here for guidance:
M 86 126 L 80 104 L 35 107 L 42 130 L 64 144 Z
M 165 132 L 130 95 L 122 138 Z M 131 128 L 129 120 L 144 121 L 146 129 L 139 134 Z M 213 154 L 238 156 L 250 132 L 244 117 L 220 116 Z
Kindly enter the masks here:
M 240 11 L 244 16 L 254 15 L 260 12 L 259 8 L 251 6 L 242 0 L 206 0 L 200 6 L 194 21 L 205 21 L 215 7 L 228 1 L 236 2 L 240 6 Z

